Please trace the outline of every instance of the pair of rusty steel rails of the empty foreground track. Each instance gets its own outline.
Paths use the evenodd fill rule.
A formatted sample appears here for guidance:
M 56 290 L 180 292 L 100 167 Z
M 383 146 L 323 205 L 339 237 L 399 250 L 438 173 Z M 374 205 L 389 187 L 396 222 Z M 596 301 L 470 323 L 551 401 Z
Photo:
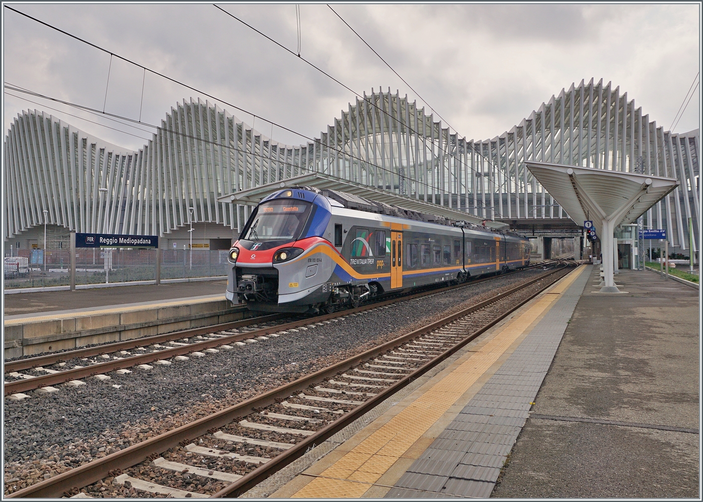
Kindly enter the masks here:
M 199 418 L 198 420 L 195 420 L 186 425 L 181 425 L 181 427 L 177 427 L 174 430 L 170 430 L 161 435 L 151 437 L 150 439 L 146 439 L 143 442 L 129 446 L 121 451 L 110 453 L 110 455 L 105 456 L 103 458 L 99 458 L 96 461 L 92 461 L 85 465 L 81 465 L 80 467 L 77 467 L 75 469 L 68 470 L 59 475 L 50 477 L 48 480 L 44 480 L 37 484 L 33 484 L 30 487 L 26 487 L 21 490 L 15 491 L 13 494 L 9 494 L 6 497 L 60 497 L 63 496 L 63 494 L 65 494 L 65 492 L 70 489 L 88 486 L 89 484 L 92 484 L 98 480 L 103 479 L 104 477 L 107 477 L 108 475 L 110 475 L 110 472 L 130 468 L 131 466 L 150 458 L 150 456 L 152 456 L 154 453 L 161 453 L 162 451 L 166 451 L 169 448 L 179 446 L 179 444 L 188 444 L 191 439 L 205 435 L 208 432 L 212 431 L 214 428 L 222 427 L 224 425 L 227 425 L 228 423 L 233 422 L 234 420 L 240 420 L 242 417 L 247 416 L 250 413 L 254 413 L 264 406 L 269 406 L 287 398 L 292 394 L 295 394 L 296 392 L 300 392 L 302 390 L 307 389 L 307 387 L 309 387 L 309 385 L 311 385 L 312 383 L 319 382 L 321 380 L 324 380 L 325 378 L 333 377 L 341 371 L 347 371 L 349 368 L 358 365 L 359 363 L 365 361 L 366 359 L 369 359 L 370 357 L 378 356 L 379 354 L 382 354 L 389 349 L 393 349 L 394 347 L 401 345 L 404 342 L 407 342 L 408 340 L 412 340 L 418 335 L 423 335 L 424 333 L 427 333 L 430 330 L 434 330 L 441 326 L 444 326 L 446 323 L 456 321 L 456 319 L 466 316 L 472 311 L 476 311 L 477 309 L 486 307 L 487 305 L 497 302 L 498 300 L 502 300 L 504 297 L 512 295 L 512 293 L 527 288 L 529 285 L 532 285 L 538 281 L 542 281 L 548 276 L 552 276 L 553 274 L 563 271 L 565 269 L 567 269 L 567 267 L 562 267 L 560 269 L 544 273 L 541 276 L 534 278 L 533 280 L 527 283 L 523 283 L 522 285 L 519 285 L 516 288 L 512 288 L 506 292 L 489 298 L 489 300 L 484 300 L 484 302 L 472 305 L 471 307 L 463 309 L 462 311 L 459 311 L 456 314 L 451 314 L 450 316 L 441 318 L 439 321 L 434 321 L 428 326 L 419 328 L 418 330 L 414 330 L 411 333 L 407 333 L 406 335 L 397 337 L 389 342 L 385 342 L 384 344 L 373 349 L 368 349 L 365 352 L 362 352 L 361 354 L 357 354 L 356 356 L 344 359 L 344 361 L 335 363 L 332 366 L 329 366 L 328 368 L 324 368 L 322 370 L 316 371 L 315 373 L 305 375 L 293 382 L 289 382 L 288 384 L 276 387 L 276 389 L 264 392 L 263 394 L 260 394 L 257 397 L 252 397 L 233 406 L 228 406 L 227 408 L 212 413 L 209 416 Z M 543 285 L 543 287 L 540 288 L 540 290 L 538 290 L 537 292 L 535 292 L 534 295 L 530 295 L 529 298 L 520 302 L 520 304 L 515 305 L 514 308 L 508 309 L 507 312 L 501 314 L 501 316 L 498 316 L 498 318 L 496 318 L 494 321 L 487 323 L 483 328 L 480 328 L 475 333 L 472 333 L 472 335 L 469 335 L 464 340 L 459 342 L 459 347 L 451 347 L 443 354 L 440 354 L 439 356 L 432 359 L 430 363 L 434 361 L 434 364 L 437 364 L 439 363 L 439 361 L 446 359 L 447 356 L 453 354 L 453 352 L 456 352 L 456 350 L 473 340 L 475 337 L 479 336 L 481 333 L 484 333 L 486 329 L 490 328 L 491 326 L 494 326 L 495 323 L 500 321 L 502 318 L 505 318 L 505 316 L 508 316 L 512 311 L 515 311 L 515 309 L 519 308 L 522 304 L 531 300 L 531 298 L 538 295 L 540 292 L 548 288 L 551 284 L 558 281 L 561 277 L 562 275 L 555 278 L 555 280 L 551 281 L 549 284 Z M 432 366 L 434 366 L 434 364 L 432 364 Z M 411 382 L 411 378 L 417 378 L 419 375 L 429 370 L 432 366 L 425 365 L 423 366 L 423 368 L 425 368 L 423 372 L 418 373 L 418 371 L 421 369 L 418 368 L 418 370 L 413 371 L 413 373 L 411 373 L 410 375 L 406 375 L 406 377 L 404 377 L 402 380 L 399 380 L 399 382 L 394 384 L 392 387 L 389 387 L 388 389 L 380 392 L 377 397 L 371 398 L 369 401 L 366 401 L 365 404 L 361 404 L 349 413 L 346 413 L 344 416 L 342 416 L 342 418 L 340 418 L 341 421 L 335 421 L 333 424 L 324 427 L 322 430 L 319 430 L 314 435 L 311 435 L 307 439 L 304 439 L 304 441 L 296 444 L 288 451 L 285 451 L 284 453 L 281 453 L 280 455 L 271 459 L 271 461 L 264 464 L 271 464 L 271 467 L 267 468 L 264 471 L 261 471 L 260 475 L 255 474 L 257 470 L 261 469 L 257 468 L 257 470 L 254 470 L 249 474 L 245 475 L 235 484 L 232 484 L 229 487 L 226 487 L 225 489 L 217 492 L 217 494 L 214 494 L 214 496 L 228 496 L 233 491 L 240 493 L 242 490 L 245 491 L 246 487 L 254 486 L 254 484 L 257 484 L 262 480 L 261 476 L 264 476 L 263 479 L 265 479 L 265 477 L 269 477 L 271 474 L 273 474 L 273 472 L 276 472 L 277 470 L 280 470 L 280 468 L 283 468 L 285 465 L 287 465 L 286 463 L 284 463 L 284 461 L 287 460 L 288 462 L 290 462 L 292 460 L 295 460 L 295 458 L 302 456 L 305 451 L 307 451 L 307 448 L 309 446 L 312 446 L 312 444 L 318 444 L 318 442 L 327 439 L 335 432 L 337 432 L 337 430 L 340 430 L 341 427 L 347 425 L 349 423 L 349 420 L 352 420 L 352 417 L 355 420 L 361 415 L 361 413 L 365 413 L 366 411 L 368 411 L 368 409 L 370 409 L 370 407 L 373 407 L 378 404 L 380 402 L 380 399 L 382 399 L 381 397 L 388 397 L 394 392 L 397 392 L 397 390 L 400 390 L 402 387 Z M 391 389 L 394 390 L 391 391 Z M 370 402 L 373 403 L 373 406 L 372 404 L 367 404 Z M 359 409 L 359 411 L 357 411 L 357 409 Z M 343 423 L 344 425 L 335 425 L 337 423 Z M 278 458 L 281 459 L 277 461 L 276 459 Z

